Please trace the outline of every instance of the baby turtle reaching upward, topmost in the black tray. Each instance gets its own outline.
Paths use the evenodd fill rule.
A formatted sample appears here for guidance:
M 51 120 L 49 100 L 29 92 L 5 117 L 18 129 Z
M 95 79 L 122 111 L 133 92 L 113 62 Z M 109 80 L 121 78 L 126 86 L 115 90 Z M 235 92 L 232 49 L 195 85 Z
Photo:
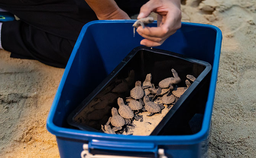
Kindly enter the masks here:
M 172 74 L 173 74 L 173 77 L 165 78 L 164 80 L 160 81 L 159 87 L 169 88 L 169 87 L 172 87 L 173 84 L 177 84 L 181 81 L 180 77 L 178 77 L 178 73 L 174 69 L 172 69 Z

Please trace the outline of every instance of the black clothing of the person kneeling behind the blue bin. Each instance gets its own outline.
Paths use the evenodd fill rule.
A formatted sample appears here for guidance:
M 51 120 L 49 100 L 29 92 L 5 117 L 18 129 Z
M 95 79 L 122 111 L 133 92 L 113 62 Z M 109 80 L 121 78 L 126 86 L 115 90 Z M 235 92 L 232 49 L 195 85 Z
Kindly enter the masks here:
M 131 16 L 147 0 L 116 2 Z M 36 59 L 55 67 L 66 66 L 84 24 L 97 20 L 84 0 L 1 0 L 0 8 L 20 18 L 2 25 L 2 46 L 11 57 Z

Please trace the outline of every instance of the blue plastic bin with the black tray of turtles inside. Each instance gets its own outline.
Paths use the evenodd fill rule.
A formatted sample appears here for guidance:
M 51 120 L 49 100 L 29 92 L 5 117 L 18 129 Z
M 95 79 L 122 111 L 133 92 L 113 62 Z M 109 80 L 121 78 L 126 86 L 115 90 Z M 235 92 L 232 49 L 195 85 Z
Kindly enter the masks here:
M 68 128 L 66 118 L 104 78 L 139 46 L 143 38 L 133 37 L 134 20 L 92 21 L 87 23 L 76 41 L 52 108 L 47 118 L 47 129 L 56 135 L 62 158 L 79 158 L 84 147 L 88 152 L 127 156 L 157 157 L 164 149 L 168 158 L 198 158 L 209 134 L 215 86 L 219 67 L 222 34 L 215 26 L 183 22 L 181 29 L 161 46 L 187 57 L 212 65 L 209 93 L 201 130 L 192 135 L 125 136 Z M 156 26 L 156 22 L 149 26 Z

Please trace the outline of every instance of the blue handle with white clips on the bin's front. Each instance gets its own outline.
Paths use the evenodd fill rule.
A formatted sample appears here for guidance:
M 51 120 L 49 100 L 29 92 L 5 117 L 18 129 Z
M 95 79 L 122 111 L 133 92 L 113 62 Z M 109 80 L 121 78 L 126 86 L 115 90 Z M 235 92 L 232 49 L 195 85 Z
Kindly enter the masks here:
M 115 156 L 115 155 L 93 155 L 90 153 L 91 149 L 102 150 L 118 150 L 124 152 L 152 152 L 157 158 L 167 158 L 164 154 L 164 149 L 158 149 L 154 143 L 133 143 L 133 142 L 113 142 L 105 140 L 95 140 L 89 142 L 89 144 L 83 144 L 83 151 L 81 152 L 81 158 L 145 158 L 145 157 L 132 157 L 132 156 Z

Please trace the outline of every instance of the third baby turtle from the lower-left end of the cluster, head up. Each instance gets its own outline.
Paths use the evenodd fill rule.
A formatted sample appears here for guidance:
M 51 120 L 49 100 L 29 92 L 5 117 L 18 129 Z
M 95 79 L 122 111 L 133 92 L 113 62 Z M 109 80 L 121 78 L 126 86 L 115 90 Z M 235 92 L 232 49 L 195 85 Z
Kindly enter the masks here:
M 118 98 L 117 99 L 117 104 L 119 106 L 118 112 L 119 114 L 123 117 L 123 118 L 133 118 L 134 117 L 134 113 L 133 111 L 130 109 L 130 107 L 128 107 L 127 105 L 125 105 L 125 103 L 123 102 L 122 98 Z

